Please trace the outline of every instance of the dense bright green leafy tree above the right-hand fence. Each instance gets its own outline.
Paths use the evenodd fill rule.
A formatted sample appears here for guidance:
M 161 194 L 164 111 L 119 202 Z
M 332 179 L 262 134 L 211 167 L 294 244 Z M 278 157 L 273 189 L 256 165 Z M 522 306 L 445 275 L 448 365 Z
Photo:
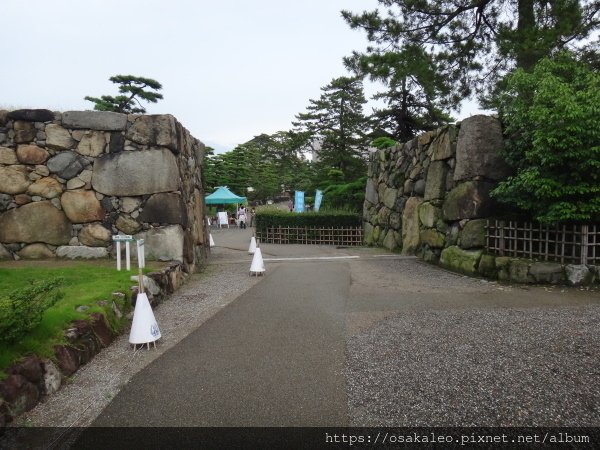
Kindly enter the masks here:
M 600 75 L 571 54 L 519 69 L 499 97 L 516 175 L 494 195 L 546 223 L 600 219 Z

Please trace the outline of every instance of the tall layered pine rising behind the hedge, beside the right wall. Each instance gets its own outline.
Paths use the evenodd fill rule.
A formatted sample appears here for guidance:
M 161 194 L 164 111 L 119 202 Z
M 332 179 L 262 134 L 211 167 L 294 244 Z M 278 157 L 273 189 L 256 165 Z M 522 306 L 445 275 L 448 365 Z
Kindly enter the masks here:
M 339 77 L 321 90 L 317 100 L 309 100 L 307 111 L 296 116 L 294 126 L 307 140 L 320 144 L 316 154 L 324 172 L 339 169 L 345 180 L 352 181 L 366 171 L 369 141 L 362 80 Z

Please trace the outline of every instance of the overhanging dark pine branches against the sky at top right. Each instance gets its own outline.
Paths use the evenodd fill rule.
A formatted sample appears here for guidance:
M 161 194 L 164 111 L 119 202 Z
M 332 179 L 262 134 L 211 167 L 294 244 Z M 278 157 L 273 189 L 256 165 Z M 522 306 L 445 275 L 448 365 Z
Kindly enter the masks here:
M 342 15 L 363 29 L 367 54 L 427 51 L 436 71 L 451 80 L 454 98 L 492 88 L 515 67 L 537 61 L 585 39 L 597 28 L 597 0 L 378 0 L 383 11 Z

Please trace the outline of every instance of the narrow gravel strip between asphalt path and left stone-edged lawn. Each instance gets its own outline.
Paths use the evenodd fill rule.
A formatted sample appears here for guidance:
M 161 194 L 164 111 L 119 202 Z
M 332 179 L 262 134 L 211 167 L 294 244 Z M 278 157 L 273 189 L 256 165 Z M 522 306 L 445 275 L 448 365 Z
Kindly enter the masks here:
M 156 307 L 154 315 L 163 336 L 156 349 L 133 351 L 129 333 L 124 333 L 78 370 L 56 394 L 21 416 L 16 425 L 89 425 L 135 373 L 258 282 L 260 278 L 248 276 L 246 263 L 221 264 L 240 256 L 236 250 L 214 248 L 206 270 L 192 275 L 179 291 Z

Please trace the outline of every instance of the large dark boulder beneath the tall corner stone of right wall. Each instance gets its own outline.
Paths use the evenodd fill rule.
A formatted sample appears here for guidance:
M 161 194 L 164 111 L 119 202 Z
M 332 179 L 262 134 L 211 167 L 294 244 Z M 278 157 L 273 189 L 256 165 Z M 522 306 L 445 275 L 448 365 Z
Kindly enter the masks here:
M 493 184 L 483 181 L 461 183 L 446 194 L 442 207 L 447 221 L 487 217 L 492 211 L 490 191 Z

